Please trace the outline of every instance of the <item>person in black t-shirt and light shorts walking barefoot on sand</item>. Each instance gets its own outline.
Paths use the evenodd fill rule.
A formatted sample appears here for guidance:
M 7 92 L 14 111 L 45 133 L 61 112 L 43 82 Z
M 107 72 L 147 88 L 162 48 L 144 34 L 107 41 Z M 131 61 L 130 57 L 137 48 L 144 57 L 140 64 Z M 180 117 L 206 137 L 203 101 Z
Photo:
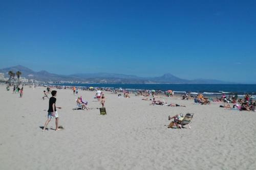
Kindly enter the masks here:
M 57 91 L 52 90 L 51 94 L 52 94 L 52 97 L 49 100 L 48 118 L 46 120 L 44 129 L 42 129 L 43 132 L 46 130 L 46 127 L 49 124 L 49 122 L 51 121 L 51 118 L 55 118 L 55 124 L 56 124 L 55 130 L 56 131 L 59 130 L 58 129 L 59 117 L 58 117 L 58 113 L 57 113 L 56 108 L 61 109 L 61 107 L 56 106 Z

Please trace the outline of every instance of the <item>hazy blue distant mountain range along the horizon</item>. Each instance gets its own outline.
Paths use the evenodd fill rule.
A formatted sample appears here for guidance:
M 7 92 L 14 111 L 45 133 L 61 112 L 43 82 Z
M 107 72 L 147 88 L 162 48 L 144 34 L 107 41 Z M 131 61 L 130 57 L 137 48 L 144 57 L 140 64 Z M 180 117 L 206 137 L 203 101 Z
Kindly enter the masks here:
M 87 73 L 87 74 L 73 74 L 73 75 L 57 75 L 51 74 L 45 70 L 33 71 L 22 65 L 0 69 L 0 72 L 9 77 L 8 71 L 21 71 L 22 77 L 27 79 L 34 79 L 42 82 L 86 82 L 86 83 L 113 83 L 113 84 L 228 84 L 219 80 L 210 79 L 196 79 L 185 80 L 180 79 L 172 74 L 164 74 L 160 77 L 138 77 L 133 75 L 111 74 L 111 73 Z

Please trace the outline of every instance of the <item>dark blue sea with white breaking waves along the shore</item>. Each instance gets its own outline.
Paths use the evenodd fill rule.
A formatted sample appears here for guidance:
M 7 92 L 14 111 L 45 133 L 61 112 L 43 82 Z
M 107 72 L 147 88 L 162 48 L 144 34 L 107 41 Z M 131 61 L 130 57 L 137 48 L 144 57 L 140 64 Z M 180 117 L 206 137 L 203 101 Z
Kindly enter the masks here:
M 177 93 L 204 93 L 204 94 L 256 94 L 256 84 L 51 84 L 76 87 L 105 87 L 129 90 L 174 90 Z

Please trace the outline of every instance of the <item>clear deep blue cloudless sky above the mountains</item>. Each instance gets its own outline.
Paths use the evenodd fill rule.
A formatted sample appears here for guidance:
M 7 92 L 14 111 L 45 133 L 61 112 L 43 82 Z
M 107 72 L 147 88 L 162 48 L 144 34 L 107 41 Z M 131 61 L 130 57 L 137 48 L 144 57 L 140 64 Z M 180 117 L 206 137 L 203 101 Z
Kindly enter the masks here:
M 256 1 L 2 1 L 0 68 L 256 83 Z

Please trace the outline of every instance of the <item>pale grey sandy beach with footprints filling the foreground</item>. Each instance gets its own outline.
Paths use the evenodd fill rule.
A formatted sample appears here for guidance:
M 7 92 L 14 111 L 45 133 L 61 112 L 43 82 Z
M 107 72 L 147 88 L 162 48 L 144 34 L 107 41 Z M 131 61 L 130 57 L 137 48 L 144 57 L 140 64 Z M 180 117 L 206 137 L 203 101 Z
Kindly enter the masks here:
M 256 113 L 195 105 L 163 96 L 168 107 L 104 92 L 79 91 L 90 110 L 75 110 L 77 95 L 57 90 L 59 125 L 42 132 L 49 100 L 44 87 L 24 87 L 23 98 L 0 86 L 0 169 L 255 169 Z M 49 95 L 51 96 L 51 95 Z M 168 129 L 168 115 L 195 113 L 191 129 Z

